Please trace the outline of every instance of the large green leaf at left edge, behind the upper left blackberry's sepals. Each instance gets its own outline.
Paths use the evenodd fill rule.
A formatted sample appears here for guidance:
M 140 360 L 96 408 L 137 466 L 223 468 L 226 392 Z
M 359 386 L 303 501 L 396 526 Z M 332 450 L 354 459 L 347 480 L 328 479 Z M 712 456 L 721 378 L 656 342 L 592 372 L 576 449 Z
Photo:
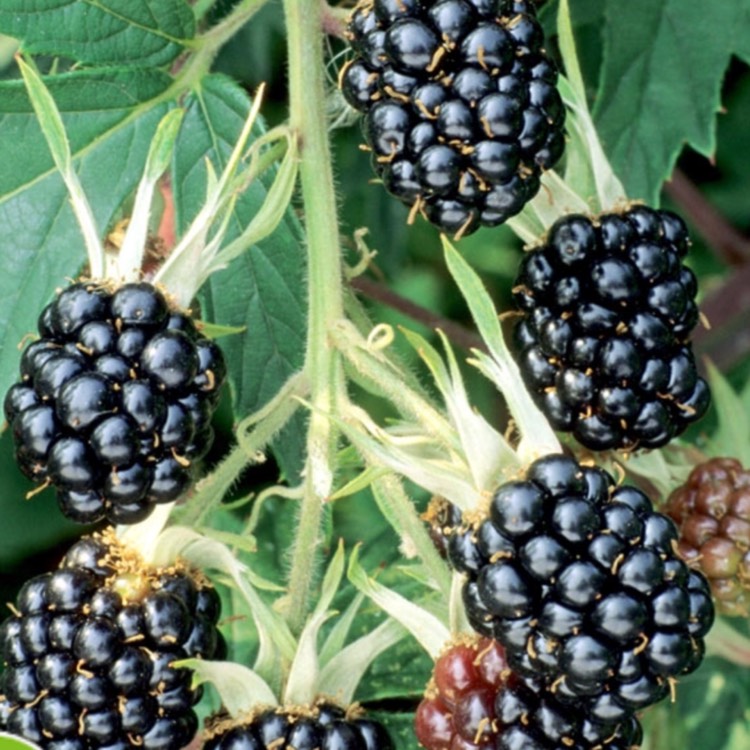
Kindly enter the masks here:
M 159 72 L 76 71 L 44 79 L 70 142 L 73 166 L 103 236 L 135 187 L 168 105 Z M 0 392 L 18 377 L 17 345 L 45 302 L 85 261 L 68 192 L 21 81 L 0 83 Z

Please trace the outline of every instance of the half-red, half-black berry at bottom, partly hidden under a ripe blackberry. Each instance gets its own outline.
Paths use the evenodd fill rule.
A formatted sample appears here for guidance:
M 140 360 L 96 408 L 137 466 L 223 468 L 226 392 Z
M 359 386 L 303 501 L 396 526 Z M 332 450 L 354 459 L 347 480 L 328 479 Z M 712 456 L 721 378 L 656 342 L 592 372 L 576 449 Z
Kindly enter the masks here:
M 626 750 L 641 740 L 635 718 L 592 721 L 524 680 L 489 638 L 463 638 L 440 656 L 414 724 L 427 750 Z

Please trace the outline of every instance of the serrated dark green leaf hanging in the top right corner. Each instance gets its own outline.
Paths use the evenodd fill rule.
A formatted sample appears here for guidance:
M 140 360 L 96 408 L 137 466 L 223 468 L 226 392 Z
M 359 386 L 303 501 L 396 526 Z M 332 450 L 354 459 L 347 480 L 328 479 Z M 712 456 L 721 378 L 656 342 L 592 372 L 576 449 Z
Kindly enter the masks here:
M 685 143 L 711 156 L 736 2 L 606 0 L 595 120 L 631 198 L 655 202 Z

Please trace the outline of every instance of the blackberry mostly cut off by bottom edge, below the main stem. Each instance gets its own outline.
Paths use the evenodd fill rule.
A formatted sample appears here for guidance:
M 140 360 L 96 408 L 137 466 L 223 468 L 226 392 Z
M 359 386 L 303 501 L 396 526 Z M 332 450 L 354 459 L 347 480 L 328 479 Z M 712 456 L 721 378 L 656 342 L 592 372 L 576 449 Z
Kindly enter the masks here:
M 351 715 L 354 714 L 354 715 Z M 321 701 L 313 706 L 275 708 L 250 719 L 219 721 L 205 750 L 393 750 L 382 724 Z

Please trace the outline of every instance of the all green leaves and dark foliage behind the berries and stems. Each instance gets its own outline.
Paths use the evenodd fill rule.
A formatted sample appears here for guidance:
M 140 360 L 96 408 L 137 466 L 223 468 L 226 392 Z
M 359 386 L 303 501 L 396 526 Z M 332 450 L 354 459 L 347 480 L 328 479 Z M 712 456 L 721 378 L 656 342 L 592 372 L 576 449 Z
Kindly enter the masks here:
M 127 211 L 160 118 L 178 103 L 186 109 L 171 169 L 180 231 L 203 200 L 205 159 L 220 165 L 239 134 L 249 106 L 247 92 L 266 81 L 264 116 L 269 124 L 286 116 L 279 3 L 267 3 L 215 60 L 200 57 L 199 35 L 220 23 L 233 5 L 226 0 L 196 3 L 195 8 L 184 0 L 0 0 L 0 33 L 5 35 L 0 42 L 0 393 L 17 377 L 18 344 L 34 330 L 43 302 L 84 263 L 66 191 L 12 61 L 14 39 L 35 55 L 40 68 L 54 73 L 47 85 L 63 114 L 103 234 Z M 597 128 L 631 198 L 673 205 L 662 190 L 679 164 L 721 214 L 747 234 L 750 0 L 571 0 L 571 7 Z M 205 15 L 196 18 L 196 9 Z M 541 18 L 553 51 L 555 14 L 556 2 L 545 3 Z M 331 40 L 330 46 L 331 101 L 341 112 L 333 83 L 342 45 Z M 184 68 L 176 64 L 186 59 Z M 191 68 L 190 60 L 203 67 Z M 368 227 L 368 242 L 378 250 L 379 281 L 437 315 L 466 323 L 466 311 L 443 266 L 437 232 L 424 222 L 407 226 L 406 209 L 364 178 L 370 171 L 368 156 L 358 149 L 361 140 L 357 124 L 333 132 L 345 244 L 353 248 L 354 230 Z M 232 231 L 257 212 L 264 195 L 258 183 L 243 196 Z M 688 211 L 686 218 L 696 237 L 690 262 L 703 294 L 721 297 L 727 284 L 744 278 L 747 267 L 727 263 L 715 246 L 702 243 L 704 227 L 697 213 Z M 521 254 L 514 236 L 505 229 L 481 230 L 460 248 L 483 273 L 498 307 L 509 307 Z M 230 443 L 233 420 L 271 398 L 302 361 L 304 268 L 299 217 L 290 210 L 271 237 L 213 277 L 201 294 L 207 318 L 246 328 L 244 334 L 222 340 L 231 397 L 218 416 L 219 439 L 209 464 Z M 712 330 L 696 344 L 699 353 L 721 360 L 737 387 L 750 371 L 750 344 L 734 342 L 727 350 L 726 340 L 727 331 L 747 328 L 742 320 L 750 303 L 745 301 L 744 309 L 742 304 L 735 301 L 723 317 L 712 320 Z M 431 335 L 390 307 L 372 303 L 372 314 Z M 404 348 L 403 356 L 413 355 Z M 466 376 L 477 405 L 499 422 L 503 409 L 496 394 L 470 373 Z M 702 444 L 712 420 L 694 431 L 694 442 Z M 275 446 L 277 463 L 248 474 L 237 493 L 272 482 L 279 472 L 295 476 L 303 457 L 303 430 L 301 418 L 287 427 Z M 0 480 L 0 600 L 10 601 L 26 578 L 56 564 L 81 529 L 61 518 L 50 492 L 24 501 L 30 486 L 15 468 L 7 430 L 0 437 Z M 256 532 L 258 550 L 248 558 L 266 577 L 286 562 L 288 502 L 268 503 Z M 239 512 L 226 516 L 227 528 L 241 528 Z M 331 539 L 335 528 L 347 545 L 365 542 L 369 569 L 399 560 L 395 535 L 366 495 L 337 503 L 329 528 Z M 366 613 L 362 627 L 377 617 Z M 240 639 L 236 655 L 249 654 L 252 647 L 251 637 L 244 644 Z M 386 712 L 400 748 L 414 745 L 408 711 L 428 671 L 429 662 L 416 648 L 402 644 L 378 662 L 358 696 Z M 747 669 L 711 659 L 681 681 L 678 697 L 674 706 L 650 714 L 648 747 L 750 746 Z

